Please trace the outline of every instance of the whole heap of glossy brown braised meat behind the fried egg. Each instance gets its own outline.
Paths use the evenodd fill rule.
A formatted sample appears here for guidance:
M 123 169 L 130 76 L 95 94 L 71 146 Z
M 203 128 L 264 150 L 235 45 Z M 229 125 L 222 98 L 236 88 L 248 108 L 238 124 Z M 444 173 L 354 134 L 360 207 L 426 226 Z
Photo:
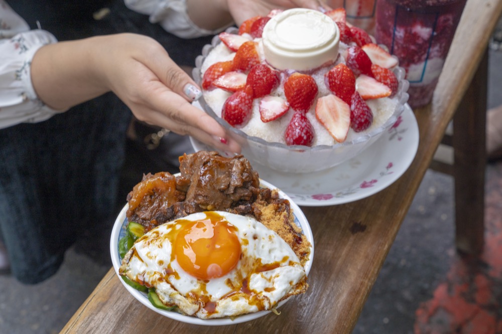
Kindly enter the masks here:
M 129 221 L 149 231 L 157 225 L 205 210 L 252 215 L 260 179 L 242 155 L 227 158 L 200 151 L 180 156 L 181 176 L 148 174 L 128 195 Z

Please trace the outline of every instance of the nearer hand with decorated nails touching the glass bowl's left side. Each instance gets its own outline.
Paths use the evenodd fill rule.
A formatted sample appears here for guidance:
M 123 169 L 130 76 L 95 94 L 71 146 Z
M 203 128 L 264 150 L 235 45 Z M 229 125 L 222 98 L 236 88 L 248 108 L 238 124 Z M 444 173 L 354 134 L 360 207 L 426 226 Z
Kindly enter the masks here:
M 195 82 L 153 39 L 134 34 L 103 37 L 100 58 L 106 85 L 141 121 L 191 135 L 222 151 L 240 152 L 216 120 L 191 105 Z

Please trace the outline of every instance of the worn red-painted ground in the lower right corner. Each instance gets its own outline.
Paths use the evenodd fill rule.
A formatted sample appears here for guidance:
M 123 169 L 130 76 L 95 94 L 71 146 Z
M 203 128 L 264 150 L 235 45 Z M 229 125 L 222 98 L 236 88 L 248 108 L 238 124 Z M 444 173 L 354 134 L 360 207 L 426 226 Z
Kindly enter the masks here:
M 485 226 L 482 255 L 455 256 L 433 298 L 416 310 L 415 334 L 502 333 L 502 162 L 488 167 Z

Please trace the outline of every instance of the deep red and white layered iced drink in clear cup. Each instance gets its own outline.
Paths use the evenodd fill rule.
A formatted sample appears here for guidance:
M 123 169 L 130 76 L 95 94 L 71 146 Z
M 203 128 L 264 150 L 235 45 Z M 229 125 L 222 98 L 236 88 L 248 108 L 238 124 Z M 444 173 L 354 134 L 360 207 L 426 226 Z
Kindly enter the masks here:
M 466 0 L 379 0 L 375 38 L 399 58 L 411 107 L 428 104 Z

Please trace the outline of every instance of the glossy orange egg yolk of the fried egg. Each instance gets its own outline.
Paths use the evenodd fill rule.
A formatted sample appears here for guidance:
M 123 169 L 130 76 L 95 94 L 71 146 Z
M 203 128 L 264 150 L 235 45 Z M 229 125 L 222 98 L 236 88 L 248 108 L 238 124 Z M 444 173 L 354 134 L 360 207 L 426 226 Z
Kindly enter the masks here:
M 178 231 L 174 253 L 190 275 L 207 280 L 232 270 L 240 258 L 236 228 L 220 216 L 187 222 Z

